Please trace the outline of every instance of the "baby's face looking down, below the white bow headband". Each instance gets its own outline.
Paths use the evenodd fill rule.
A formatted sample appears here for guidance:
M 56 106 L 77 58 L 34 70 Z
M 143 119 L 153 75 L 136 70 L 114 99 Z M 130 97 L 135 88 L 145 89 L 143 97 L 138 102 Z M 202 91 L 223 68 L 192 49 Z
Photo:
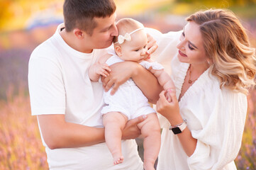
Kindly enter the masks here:
M 141 62 L 145 60 L 148 55 L 148 38 L 145 30 L 138 30 L 138 32 L 130 35 L 131 40 L 126 41 L 121 45 L 122 55 L 119 56 L 122 60 Z

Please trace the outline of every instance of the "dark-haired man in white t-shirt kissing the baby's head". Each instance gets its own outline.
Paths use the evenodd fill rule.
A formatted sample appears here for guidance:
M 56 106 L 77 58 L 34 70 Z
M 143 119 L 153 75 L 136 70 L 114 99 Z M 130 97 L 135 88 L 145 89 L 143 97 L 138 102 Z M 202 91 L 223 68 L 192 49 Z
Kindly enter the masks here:
M 118 35 L 115 11 L 113 0 L 66 0 L 65 24 L 30 57 L 31 111 L 38 116 L 50 169 L 143 169 L 135 140 L 127 139 L 138 137 L 136 125 L 145 117 L 127 123 L 122 142 L 126 162 L 113 165 L 100 114 L 102 84 L 88 77 L 89 66 L 106 54 Z M 114 93 L 130 77 L 151 101 L 157 99 L 161 91 L 157 79 L 133 62 L 113 65 L 105 89 L 113 86 Z

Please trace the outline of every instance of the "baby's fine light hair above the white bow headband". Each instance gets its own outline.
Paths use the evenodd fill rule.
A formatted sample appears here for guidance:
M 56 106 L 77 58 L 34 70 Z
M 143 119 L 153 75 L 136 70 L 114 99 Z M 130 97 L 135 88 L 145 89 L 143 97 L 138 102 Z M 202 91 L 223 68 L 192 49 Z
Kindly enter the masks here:
M 133 18 L 122 18 L 116 22 L 116 27 L 118 29 L 118 35 L 125 35 L 138 28 L 144 28 L 143 24 Z M 117 42 L 118 36 L 113 38 L 113 42 Z

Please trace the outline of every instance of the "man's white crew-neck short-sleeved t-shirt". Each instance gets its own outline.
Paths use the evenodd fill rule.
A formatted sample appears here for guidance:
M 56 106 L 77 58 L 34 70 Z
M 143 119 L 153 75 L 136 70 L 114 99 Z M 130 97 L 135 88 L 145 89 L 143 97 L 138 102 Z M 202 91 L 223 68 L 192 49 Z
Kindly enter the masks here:
M 30 57 L 28 85 L 32 115 L 65 114 L 67 122 L 103 127 L 100 113 L 104 106 L 102 84 L 90 81 L 88 69 L 107 50 L 86 54 L 72 49 L 60 36 L 63 27 L 60 25 Z M 42 141 L 50 169 L 143 169 L 135 140 L 122 141 L 125 161 L 118 165 L 113 165 L 106 143 L 50 149 L 43 137 Z

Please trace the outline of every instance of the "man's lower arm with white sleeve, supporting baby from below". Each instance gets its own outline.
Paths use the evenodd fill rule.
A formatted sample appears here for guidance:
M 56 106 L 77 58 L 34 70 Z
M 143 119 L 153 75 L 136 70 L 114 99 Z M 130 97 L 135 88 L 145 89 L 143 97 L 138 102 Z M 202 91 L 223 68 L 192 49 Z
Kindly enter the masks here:
M 38 124 L 46 145 L 50 149 L 57 149 L 104 142 L 104 128 L 93 128 L 65 120 L 67 100 L 61 74 L 61 69 L 52 60 L 30 60 L 28 85 L 31 111 L 32 115 L 38 116 Z M 143 120 L 141 117 L 128 123 L 123 139 L 138 137 L 140 130 L 137 124 Z

